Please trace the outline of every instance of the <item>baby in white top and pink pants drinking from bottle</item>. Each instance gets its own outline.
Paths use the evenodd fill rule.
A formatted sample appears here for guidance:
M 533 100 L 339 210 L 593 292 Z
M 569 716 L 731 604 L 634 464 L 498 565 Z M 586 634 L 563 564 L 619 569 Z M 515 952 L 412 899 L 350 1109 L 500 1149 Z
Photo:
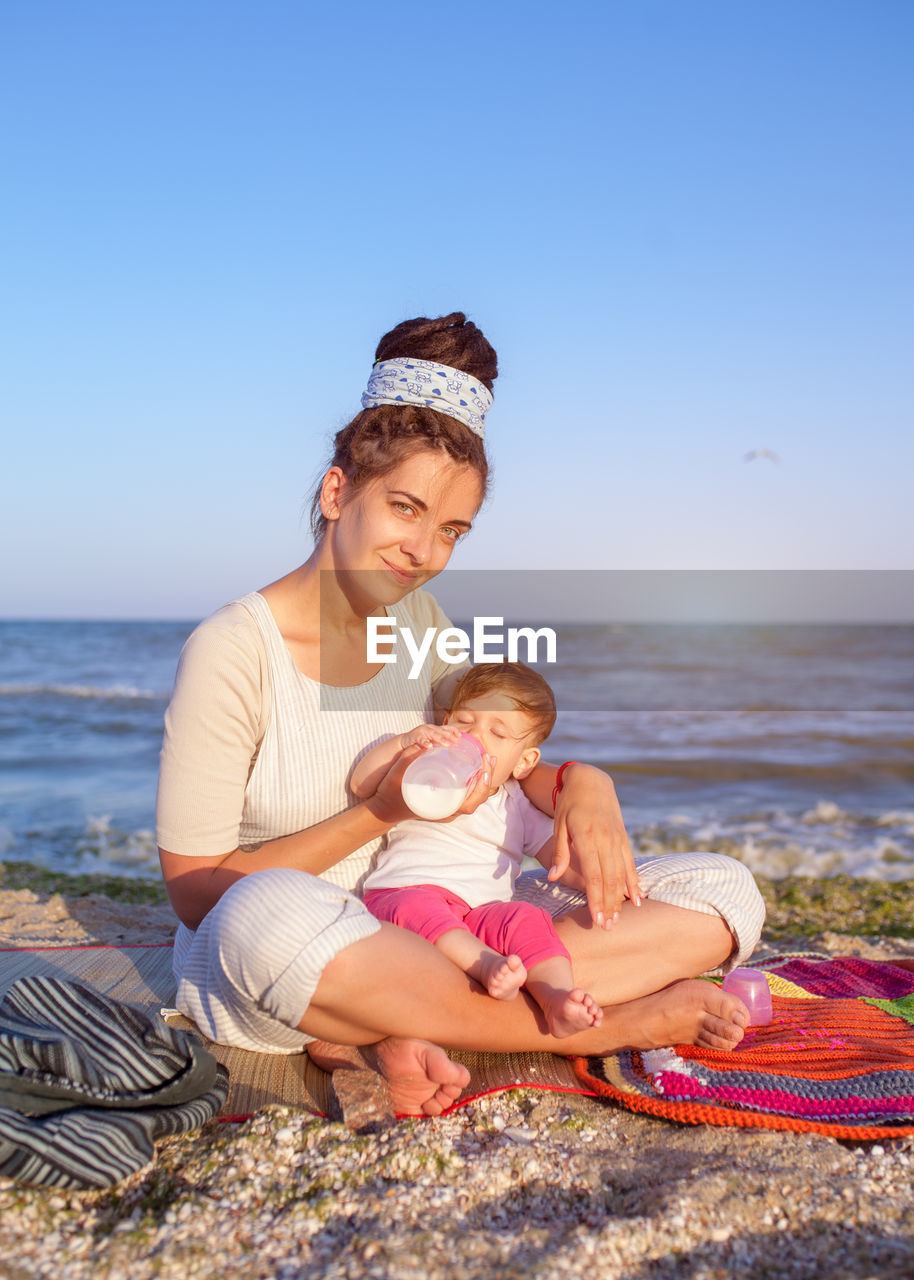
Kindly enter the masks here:
M 387 836 L 365 881 L 365 905 L 380 920 L 412 929 L 495 1000 L 524 987 L 553 1036 L 598 1027 L 603 1011 L 575 987 L 571 956 L 548 911 L 513 902 L 524 855 L 552 867 L 553 822 L 524 795 L 556 722 L 556 700 L 543 677 L 521 662 L 471 667 L 452 699 L 445 724 L 420 724 L 371 748 L 351 787 L 374 795 L 408 746 L 453 742 L 471 733 L 494 756 L 490 794 L 474 813 L 447 822 L 410 819 Z

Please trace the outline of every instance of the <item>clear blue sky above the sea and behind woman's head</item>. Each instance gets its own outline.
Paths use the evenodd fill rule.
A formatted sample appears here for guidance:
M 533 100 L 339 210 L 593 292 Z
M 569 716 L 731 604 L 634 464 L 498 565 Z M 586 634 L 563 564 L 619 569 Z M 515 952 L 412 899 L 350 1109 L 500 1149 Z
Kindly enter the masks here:
M 502 369 L 457 567 L 914 568 L 913 47 L 908 0 L 5 5 L 0 614 L 292 568 L 378 337 L 452 308 Z

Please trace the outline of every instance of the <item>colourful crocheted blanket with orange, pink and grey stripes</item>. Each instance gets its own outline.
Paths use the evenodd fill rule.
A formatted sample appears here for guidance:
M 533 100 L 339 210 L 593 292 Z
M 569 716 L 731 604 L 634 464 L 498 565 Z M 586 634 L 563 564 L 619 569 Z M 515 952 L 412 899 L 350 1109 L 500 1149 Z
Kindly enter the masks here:
M 734 1051 L 677 1044 L 581 1057 L 579 1078 L 630 1111 L 682 1124 L 873 1140 L 914 1133 L 914 973 L 855 956 L 757 968 L 773 1020 Z

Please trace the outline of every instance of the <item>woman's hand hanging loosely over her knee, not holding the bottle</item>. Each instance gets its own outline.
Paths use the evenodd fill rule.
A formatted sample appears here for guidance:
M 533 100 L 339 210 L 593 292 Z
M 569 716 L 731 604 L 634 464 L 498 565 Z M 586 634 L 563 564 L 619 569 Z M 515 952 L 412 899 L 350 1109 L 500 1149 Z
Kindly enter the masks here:
M 641 886 L 612 778 L 590 764 L 570 764 L 556 801 L 556 846 L 549 879 L 588 895 L 598 928 L 618 919 L 625 899 L 640 906 Z

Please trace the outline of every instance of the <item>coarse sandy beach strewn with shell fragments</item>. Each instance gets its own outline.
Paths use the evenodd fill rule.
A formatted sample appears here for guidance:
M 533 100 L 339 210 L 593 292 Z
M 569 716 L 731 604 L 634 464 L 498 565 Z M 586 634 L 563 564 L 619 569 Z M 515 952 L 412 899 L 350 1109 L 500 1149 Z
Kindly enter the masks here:
M 0 946 L 170 937 L 170 909 L 154 888 L 124 890 L 146 901 L 91 888 L 69 878 L 55 893 L 37 874 L 5 874 Z M 835 886 L 832 897 L 846 891 Z M 769 888 L 769 952 L 914 956 L 910 937 L 872 920 L 872 932 L 806 924 L 791 937 L 783 904 L 803 892 L 781 886 L 772 901 Z M 824 918 L 846 923 L 833 900 L 830 913 L 827 890 L 815 893 Z M 111 1190 L 0 1179 L 0 1275 L 558 1280 L 598 1267 L 620 1280 L 901 1280 L 914 1275 L 913 1184 L 914 1138 L 680 1126 L 531 1089 L 374 1135 L 271 1108 L 166 1139 L 152 1165 Z

